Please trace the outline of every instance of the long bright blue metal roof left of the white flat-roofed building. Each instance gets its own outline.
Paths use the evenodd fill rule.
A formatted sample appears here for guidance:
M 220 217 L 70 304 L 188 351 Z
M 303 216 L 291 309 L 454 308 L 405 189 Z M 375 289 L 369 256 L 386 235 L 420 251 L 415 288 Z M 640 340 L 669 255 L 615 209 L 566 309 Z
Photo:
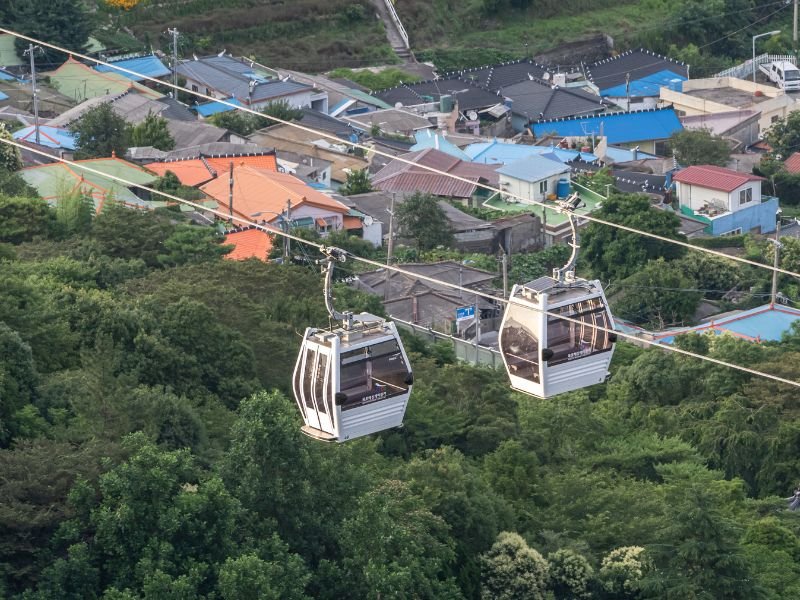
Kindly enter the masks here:
M 682 129 L 683 125 L 672 108 L 607 113 L 533 124 L 533 133 L 536 137 L 549 133 L 575 137 L 602 134 L 608 138 L 609 144 L 665 140 Z

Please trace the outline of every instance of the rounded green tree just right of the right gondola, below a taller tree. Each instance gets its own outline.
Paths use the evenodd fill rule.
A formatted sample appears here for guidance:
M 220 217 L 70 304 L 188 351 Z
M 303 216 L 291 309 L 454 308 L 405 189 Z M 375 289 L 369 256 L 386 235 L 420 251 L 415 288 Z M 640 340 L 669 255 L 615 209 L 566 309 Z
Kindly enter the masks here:
M 614 313 L 659 330 L 690 321 L 703 298 L 702 292 L 693 291 L 694 279 L 663 259 L 651 260 L 618 285 Z

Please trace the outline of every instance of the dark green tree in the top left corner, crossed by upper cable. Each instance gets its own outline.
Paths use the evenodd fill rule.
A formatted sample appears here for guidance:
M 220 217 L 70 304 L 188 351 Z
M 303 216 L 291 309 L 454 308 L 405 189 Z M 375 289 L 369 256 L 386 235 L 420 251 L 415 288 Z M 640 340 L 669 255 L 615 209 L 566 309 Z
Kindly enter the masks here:
M 11 2 L 8 12 L 11 29 L 68 50 L 85 52 L 93 24 L 86 5 L 80 0 Z M 17 55 L 22 56 L 28 49 L 28 41 L 17 38 L 14 47 Z M 42 48 L 35 58 L 45 67 L 54 67 L 67 60 L 63 52 L 49 48 Z

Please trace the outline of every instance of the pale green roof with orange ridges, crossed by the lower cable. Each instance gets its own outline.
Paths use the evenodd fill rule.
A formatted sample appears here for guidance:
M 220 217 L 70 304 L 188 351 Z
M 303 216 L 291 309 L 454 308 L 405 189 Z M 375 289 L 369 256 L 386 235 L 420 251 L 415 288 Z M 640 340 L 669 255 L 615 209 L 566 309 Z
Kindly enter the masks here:
M 85 164 L 96 171 L 142 185 L 149 185 L 158 178 L 153 173 L 118 158 L 83 160 L 78 161 L 77 164 Z M 80 187 L 85 193 L 91 194 L 95 200 L 96 208 L 100 208 L 102 202 L 109 197 L 113 197 L 115 200 L 124 202 L 129 206 L 150 207 L 149 202 L 136 196 L 124 184 L 79 167 L 53 163 L 22 169 L 19 173 L 28 184 L 36 189 L 42 198 L 53 205 L 58 203 L 59 197 L 64 193 Z

